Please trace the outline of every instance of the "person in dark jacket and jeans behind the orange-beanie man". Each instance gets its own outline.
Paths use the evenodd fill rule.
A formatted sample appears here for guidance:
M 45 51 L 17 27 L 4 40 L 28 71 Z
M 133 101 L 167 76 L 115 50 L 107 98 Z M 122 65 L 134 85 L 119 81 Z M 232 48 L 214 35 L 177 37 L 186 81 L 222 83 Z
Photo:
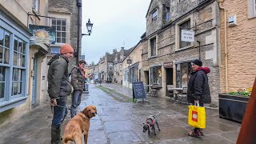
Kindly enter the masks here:
M 82 91 L 85 88 L 85 73 L 84 69 L 86 66 L 86 61 L 80 60 L 78 66 L 74 66 L 71 71 L 71 84 L 74 88 L 72 93 L 72 105 L 70 110 L 70 116 L 73 118 L 77 114 L 77 107 L 81 103 Z

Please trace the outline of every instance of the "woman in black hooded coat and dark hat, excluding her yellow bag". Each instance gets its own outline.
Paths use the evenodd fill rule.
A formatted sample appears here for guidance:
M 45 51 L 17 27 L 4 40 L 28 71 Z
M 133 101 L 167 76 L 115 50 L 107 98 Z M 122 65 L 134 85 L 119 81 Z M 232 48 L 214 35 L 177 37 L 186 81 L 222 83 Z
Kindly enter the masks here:
M 193 72 L 191 73 L 187 86 L 187 101 L 192 104 L 199 103 L 199 106 L 204 106 L 205 103 L 211 103 L 207 77 L 210 69 L 208 67 L 202 67 L 202 61 L 199 59 L 195 59 L 191 65 Z M 192 137 L 204 136 L 202 129 L 198 128 L 194 128 L 194 130 L 188 132 L 188 135 Z

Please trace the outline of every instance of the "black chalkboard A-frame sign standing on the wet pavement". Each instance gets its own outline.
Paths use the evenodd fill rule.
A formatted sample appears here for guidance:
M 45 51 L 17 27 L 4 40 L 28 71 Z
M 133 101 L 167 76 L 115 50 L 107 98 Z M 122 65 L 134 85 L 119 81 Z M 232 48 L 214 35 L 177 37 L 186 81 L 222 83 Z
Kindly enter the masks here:
M 143 82 L 133 82 L 133 98 L 146 98 Z

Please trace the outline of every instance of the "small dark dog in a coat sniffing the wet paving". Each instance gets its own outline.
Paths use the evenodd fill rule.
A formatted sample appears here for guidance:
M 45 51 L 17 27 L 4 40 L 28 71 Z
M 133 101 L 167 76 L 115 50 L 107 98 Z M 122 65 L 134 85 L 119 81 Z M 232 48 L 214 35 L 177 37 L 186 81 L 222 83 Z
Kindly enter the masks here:
M 154 115 L 150 115 L 148 118 L 146 118 L 146 123 L 143 123 L 143 132 L 145 133 L 146 130 L 148 130 L 148 134 L 150 134 L 150 128 L 151 128 L 151 130 L 154 131 L 154 135 L 157 135 L 155 134 L 155 127 L 154 127 L 155 124 L 158 126 L 157 118 L 155 118 Z M 158 126 L 158 130 L 160 131 L 159 126 Z

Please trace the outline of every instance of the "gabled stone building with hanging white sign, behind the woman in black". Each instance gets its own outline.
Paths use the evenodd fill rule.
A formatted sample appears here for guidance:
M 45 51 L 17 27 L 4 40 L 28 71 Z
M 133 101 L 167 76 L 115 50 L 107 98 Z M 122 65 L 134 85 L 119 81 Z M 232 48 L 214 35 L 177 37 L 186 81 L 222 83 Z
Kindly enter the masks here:
M 186 87 L 191 61 L 201 58 L 208 74 L 213 106 L 218 105 L 220 40 L 219 9 L 214 0 L 152 0 L 146 14 L 146 38 L 142 51 L 145 84 Z M 186 31 L 185 31 L 186 30 Z M 182 41 L 182 31 L 194 33 L 194 42 Z

